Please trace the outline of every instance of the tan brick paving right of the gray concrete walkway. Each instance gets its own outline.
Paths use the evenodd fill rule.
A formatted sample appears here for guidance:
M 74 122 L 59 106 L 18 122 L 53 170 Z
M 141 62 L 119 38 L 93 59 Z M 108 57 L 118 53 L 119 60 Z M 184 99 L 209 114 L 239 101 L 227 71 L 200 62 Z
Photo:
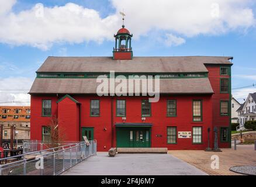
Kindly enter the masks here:
M 237 165 L 256 165 L 256 151 L 254 145 L 237 145 L 233 148 L 222 148 L 223 152 L 206 152 L 192 150 L 168 151 L 169 154 L 194 165 L 209 175 L 240 175 L 229 170 Z M 219 169 L 212 169 L 210 164 L 212 155 L 219 156 Z

